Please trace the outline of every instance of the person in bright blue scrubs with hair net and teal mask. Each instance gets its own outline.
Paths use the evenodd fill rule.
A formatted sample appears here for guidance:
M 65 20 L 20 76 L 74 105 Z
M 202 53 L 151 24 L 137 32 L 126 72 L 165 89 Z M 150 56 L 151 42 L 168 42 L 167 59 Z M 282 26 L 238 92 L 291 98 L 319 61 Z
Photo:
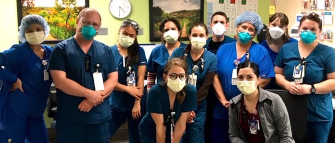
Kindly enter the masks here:
M 238 40 L 222 45 L 216 53 L 217 73 L 213 86 L 218 98 L 213 111 L 213 126 L 211 142 L 218 140 L 229 142 L 228 110 L 229 100 L 241 92 L 237 88 L 237 66 L 240 62 L 249 60 L 259 65 L 260 83 L 264 88 L 274 77 L 271 58 L 266 49 L 253 42 L 252 39 L 261 32 L 263 23 L 259 15 L 244 12 L 235 21 Z

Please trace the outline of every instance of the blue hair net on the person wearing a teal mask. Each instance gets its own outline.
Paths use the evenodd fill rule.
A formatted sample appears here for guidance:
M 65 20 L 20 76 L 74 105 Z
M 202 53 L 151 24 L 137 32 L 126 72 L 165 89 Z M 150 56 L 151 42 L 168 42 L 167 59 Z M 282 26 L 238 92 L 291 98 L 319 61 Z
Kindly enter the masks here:
M 257 29 L 256 35 L 258 35 L 264 27 L 261 17 L 254 12 L 247 11 L 238 16 L 235 20 L 235 27 L 245 22 L 248 22 L 255 26 L 255 28 Z

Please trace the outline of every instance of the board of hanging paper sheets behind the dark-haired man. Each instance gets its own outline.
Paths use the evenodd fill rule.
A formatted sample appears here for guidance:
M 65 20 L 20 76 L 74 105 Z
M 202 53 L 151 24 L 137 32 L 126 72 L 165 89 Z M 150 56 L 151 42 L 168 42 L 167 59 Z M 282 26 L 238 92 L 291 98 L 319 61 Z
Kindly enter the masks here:
M 245 11 L 257 13 L 258 0 L 207 0 L 207 28 L 209 34 L 211 16 L 214 12 L 222 11 L 227 14 L 229 28 L 226 34 L 236 34 L 235 19 Z

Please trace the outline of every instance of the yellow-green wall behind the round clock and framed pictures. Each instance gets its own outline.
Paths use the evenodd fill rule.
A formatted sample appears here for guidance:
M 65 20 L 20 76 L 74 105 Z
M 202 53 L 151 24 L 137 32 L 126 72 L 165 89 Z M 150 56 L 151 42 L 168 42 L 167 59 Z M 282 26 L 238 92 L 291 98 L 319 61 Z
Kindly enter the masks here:
M 113 45 L 117 41 L 118 29 L 122 19 L 114 18 L 109 12 L 109 3 L 111 0 L 90 0 L 90 7 L 99 11 L 102 17 L 102 27 L 108 28 L 108 35 L 98 35 L 96 40 L 102 41 L 107 45 Z M 129 0 L 132 6 L 131 13 L 126 19 L 130 18 L 137 21 L 140 27 L 143 28 L 143 35 L 138 35 L 139 43 L 151 43 L 149 41 L 149 1 L 148 0 Z M 8 49 L 11 45 L 18 42 L 17 37 L 17 12 L 16 0 L 0 0 L 0 51 Z M 204 19 L 207 19 L 207 3 L 205 0 Z M 258 0 L 258 14 L 261 16 L 264 23 L 268 23 L 269 17 L 269 0 Z M 232 36 L 232 35 L 231 35 Z M 255 38 L 254 38 L 255 39 Z M 52 120 L 46 117 L 47 127 L 50 127 Z

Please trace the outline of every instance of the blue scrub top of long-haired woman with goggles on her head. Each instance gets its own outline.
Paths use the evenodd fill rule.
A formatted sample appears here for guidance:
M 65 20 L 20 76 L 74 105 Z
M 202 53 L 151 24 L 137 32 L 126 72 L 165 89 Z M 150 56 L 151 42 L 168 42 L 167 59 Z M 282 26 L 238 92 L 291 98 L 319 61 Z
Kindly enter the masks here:
M 118 83 L 127 86 L 127 71 L 128 71 L 128 67 L 123 67 L 123 57 L 120 54 L 118 47 L 116 45 L 111 47 L 112 49 L 112 53 L 114 55 L 115 58 L 115 62 L 116 65 L 119 69 L 118 72 Z M 138 66 L 141 65 L 146 65 L 146 58 L 145 58 L 145 53 L 142 47 L 138 48 L 137 51 L 138 54 L 138 61 L 136 63 L 136 65 L 132 65 L 132 69 L 135 71 L 135 79 L 137 81 L 137 70 L 138 70 Z M 145 99 L 142 99 L 145 100 Z M 109 104 L 111 106 L 111 108 L 115 111 L 119 111 L 119 112 L 127 112 L 127 111 L 131 111 L 133 109 L 134 106 L 134 102 L 135 102 L 135 98 L 132 97 L 130 94 L 128 94 L 127 92 L 121 92 L 121 91 L 116 91 L 113 90 L 111 97 L 110 97 L 110 101 Z

